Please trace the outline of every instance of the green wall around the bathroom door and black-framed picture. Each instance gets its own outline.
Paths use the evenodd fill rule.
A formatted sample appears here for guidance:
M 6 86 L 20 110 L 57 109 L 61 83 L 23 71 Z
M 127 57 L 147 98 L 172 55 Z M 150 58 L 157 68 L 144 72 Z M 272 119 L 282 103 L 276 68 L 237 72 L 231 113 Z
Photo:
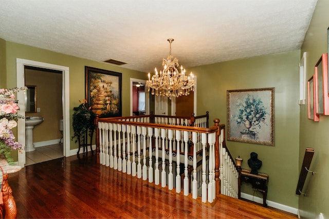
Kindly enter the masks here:
M 2 42 L 0 41 L 0 46 Z M 108 48 L 111 49 L 111 48 Z M 144 72 L 125 69 L 122 67 L 90 61 L 88 59 L 65 55 L 49 50 L 22 44 L 6 42 L 6 66 L 7 66 L 7 87 L 16 86 L 16 58 L 29 59 L 37 62 L 44 62 L 54 65 L 69 67 L 69 108 L 70 115 L 73 114 L 73 108 L 78 106 L 79 100 L 85 98 L 85 66 L 111 70 L 122 73 L 122 115 L 130 115 L 130 78 L 147 79 Z M 71 121 L 71 118 L 70 118 Z M 70 129 L 72 136 L 73 129 Z M 71 141 L 70 149 L 78 148 L 78 143 Z

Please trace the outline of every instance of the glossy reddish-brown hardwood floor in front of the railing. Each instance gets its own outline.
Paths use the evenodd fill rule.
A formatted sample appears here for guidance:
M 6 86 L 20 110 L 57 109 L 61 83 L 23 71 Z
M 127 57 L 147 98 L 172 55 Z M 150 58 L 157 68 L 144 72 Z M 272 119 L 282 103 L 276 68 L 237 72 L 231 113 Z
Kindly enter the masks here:
M 88 155 L 9 174 L 17 218 L 296 218 L 225 195 L 215 204 L 202 204 L 96 164 L 96 156 Z

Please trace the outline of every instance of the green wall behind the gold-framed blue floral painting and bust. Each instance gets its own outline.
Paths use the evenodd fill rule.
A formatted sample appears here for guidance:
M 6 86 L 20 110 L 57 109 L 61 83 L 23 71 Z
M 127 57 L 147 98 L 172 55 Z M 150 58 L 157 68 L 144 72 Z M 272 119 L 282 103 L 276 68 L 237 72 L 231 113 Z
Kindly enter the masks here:
M 244 169 L 250 169 L 250 153 L 258 153 L 263 162 L 259 172 L 269 175 L 267 200 L 293 208 L 298 208 L 299 61 L 298 50 L 189 69 L 197 77 L 197 113 L 209 111 L 210 125 L 214 118 L 227 124 L 227 90 L 275 88 L 275 146 L 226 144 L 233 157 L 244 159 Z M 241 189 L 253 194 L 247 184 Z

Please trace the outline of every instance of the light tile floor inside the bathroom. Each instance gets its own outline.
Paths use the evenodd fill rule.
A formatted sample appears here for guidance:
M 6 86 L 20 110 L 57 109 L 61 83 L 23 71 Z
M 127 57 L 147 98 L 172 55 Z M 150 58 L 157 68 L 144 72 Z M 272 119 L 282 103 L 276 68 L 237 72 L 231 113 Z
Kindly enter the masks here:
M 35 151 L 26 152 L 25 166 L 50 161 L 63 157 L 63 145 L 48 145 L 35 148 Z

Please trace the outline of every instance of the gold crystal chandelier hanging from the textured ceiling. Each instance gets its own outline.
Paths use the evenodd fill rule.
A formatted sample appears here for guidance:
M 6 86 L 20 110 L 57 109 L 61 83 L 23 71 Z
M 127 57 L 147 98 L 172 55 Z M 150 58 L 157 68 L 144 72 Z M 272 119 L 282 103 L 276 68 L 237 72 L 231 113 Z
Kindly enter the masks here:
M 171 55 L 171 43 L 173 41 L 174 39 L 168 39 L 170 50 L 167 59 L 163 58 L 162 60 L 163 70 L 158 74 L 155 68 L 155 75 L 150 78 L 149 73 L 149 80 L 146 82 L 148 90 L 150 91 L 150 88 L 152 88 L 153 95 L 167 96 L 170 99 L 180 95 L 188 95 L 190 91 L 194 91 L 194 75 L 192 72 L 187 76 L 182 66 L 180 66 L 180 73 L 176 68 L 179 67 L 178 59 L 173 58 Z

